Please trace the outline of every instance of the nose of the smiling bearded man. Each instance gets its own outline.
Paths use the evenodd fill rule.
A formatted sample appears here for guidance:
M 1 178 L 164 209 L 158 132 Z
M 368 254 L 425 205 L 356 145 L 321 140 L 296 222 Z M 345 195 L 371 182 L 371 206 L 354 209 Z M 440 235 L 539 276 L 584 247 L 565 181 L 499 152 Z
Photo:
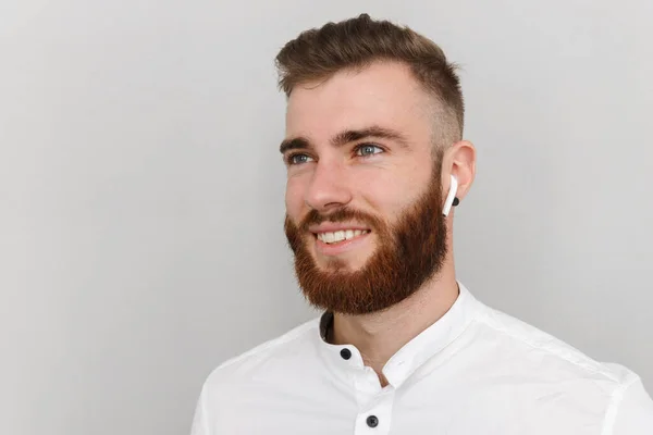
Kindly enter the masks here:
M 336 162 L 319 161 L 306 190 L 306 204 L 319 212 L 342 208 L 352 201 L 345 169 Z

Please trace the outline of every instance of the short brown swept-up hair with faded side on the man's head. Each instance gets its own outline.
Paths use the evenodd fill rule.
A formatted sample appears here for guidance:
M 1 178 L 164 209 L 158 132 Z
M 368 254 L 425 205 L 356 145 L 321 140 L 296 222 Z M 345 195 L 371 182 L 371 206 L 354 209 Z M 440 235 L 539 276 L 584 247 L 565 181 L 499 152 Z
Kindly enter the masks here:
M 288 41 L 275 58 L 279 87 L 289 97 L 297 85 L 324 80 L 343 70 L 362 70 L 379 61 L 406 64 L 441 105 L 441 140 L 452 145 L 461 139 L 465 104 L 457 65 L 447 62 L 431 39 L 368 14 L 326 23 Z

